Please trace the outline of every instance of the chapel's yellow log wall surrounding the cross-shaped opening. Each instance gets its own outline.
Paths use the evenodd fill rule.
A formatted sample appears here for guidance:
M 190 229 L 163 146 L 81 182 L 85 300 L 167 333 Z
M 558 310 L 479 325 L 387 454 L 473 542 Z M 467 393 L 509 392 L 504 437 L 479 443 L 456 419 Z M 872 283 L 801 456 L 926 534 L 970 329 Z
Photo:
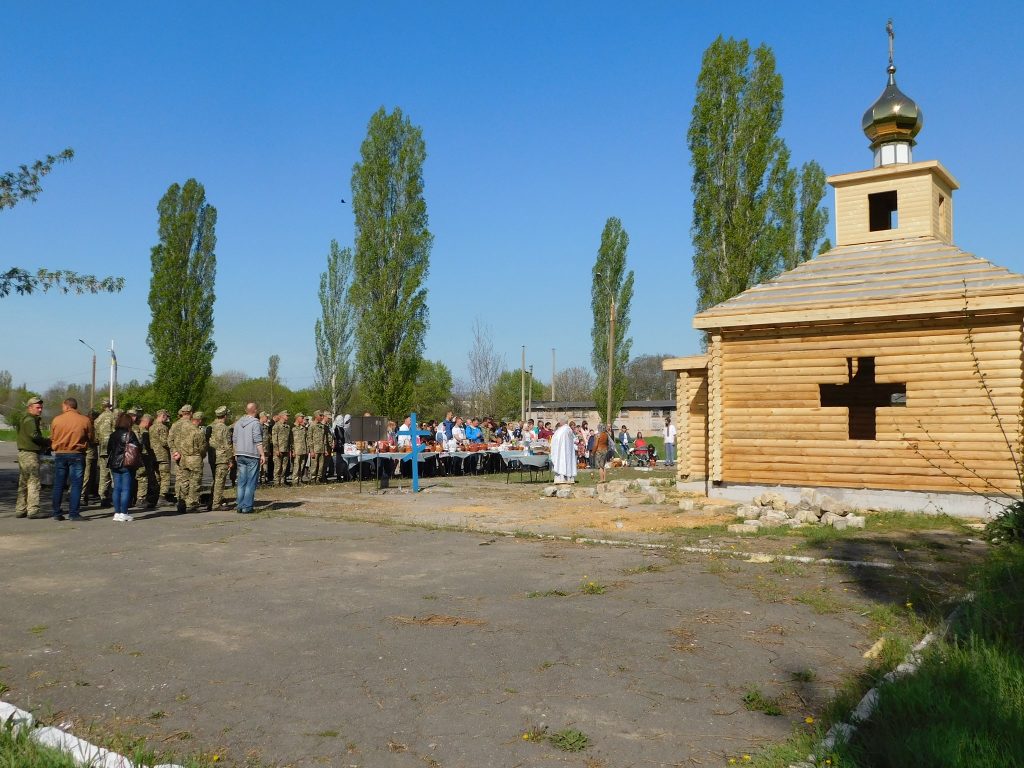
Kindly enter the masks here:
M 1013 313 L 723 332 L 721 479 L 1020 494 L 1022 321 Z M 906 407 L 878 409 L 877 439 L 851 440 L 847 409 L 821 408 L 818 385 L 847 383 L 846 358 L 864 356 L 874 357 L 877 382 L 905 383 Z M 709 377 L 714 397 L 714 371 Z M 709 410 L 714 420 L 715 404 Z M 714 472 L 713 421 L 709 432 Z

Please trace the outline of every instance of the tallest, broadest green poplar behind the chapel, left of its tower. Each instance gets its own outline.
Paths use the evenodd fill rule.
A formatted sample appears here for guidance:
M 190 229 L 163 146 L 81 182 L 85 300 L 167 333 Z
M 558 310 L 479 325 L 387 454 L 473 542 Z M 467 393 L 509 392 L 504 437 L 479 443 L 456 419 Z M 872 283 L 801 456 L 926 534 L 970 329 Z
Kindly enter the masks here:
M 782 78 L 767 45 L 705 51 L 687 144 L 693 274 L 707 309 L 778 273 L 796 248 L 796 174 L 778 135 Z

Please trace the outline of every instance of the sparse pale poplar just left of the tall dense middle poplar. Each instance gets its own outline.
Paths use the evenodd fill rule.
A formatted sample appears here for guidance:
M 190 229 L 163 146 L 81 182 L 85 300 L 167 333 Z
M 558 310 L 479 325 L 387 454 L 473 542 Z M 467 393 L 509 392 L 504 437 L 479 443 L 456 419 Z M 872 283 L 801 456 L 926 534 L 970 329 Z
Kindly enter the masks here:
M 348 290 L 352 285 L 352 249 L 331 241 L 327 270 L 321 272 L 321 317 L 316 340 L 316 386 L 330 403 L 331 413 L 345 408 L 352 394 L 352 334 L 355 322 Z

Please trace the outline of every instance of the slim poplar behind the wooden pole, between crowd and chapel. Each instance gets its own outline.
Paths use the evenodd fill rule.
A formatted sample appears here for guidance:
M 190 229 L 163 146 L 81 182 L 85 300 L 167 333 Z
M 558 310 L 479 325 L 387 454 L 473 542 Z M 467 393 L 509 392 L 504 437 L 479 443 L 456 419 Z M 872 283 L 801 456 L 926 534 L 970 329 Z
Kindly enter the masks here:
M 604 223 L 601 245 L 594 261 L 590 295 L 594 308 L 594 325 L 590 336 L 594 343 L 590 353 L 594 366 L 596 382 L 594 401 L 597 412 L 605 423 L 609 423 L 608 410 L 608 366 L 611 366 L 611 413 L 617 414 L 626 399 L 629 382 L 626 366 L 630 361 L 630 303 L 633 301 L 633 270 L 626 270 L 627 250 L 630 236 L 623 228 L 623 222 L 614 216 Z M 608 333 L 611 324 L 611 303 L 614 299 L 615 334 L 612 341 L 614 358 L 608 359 Z

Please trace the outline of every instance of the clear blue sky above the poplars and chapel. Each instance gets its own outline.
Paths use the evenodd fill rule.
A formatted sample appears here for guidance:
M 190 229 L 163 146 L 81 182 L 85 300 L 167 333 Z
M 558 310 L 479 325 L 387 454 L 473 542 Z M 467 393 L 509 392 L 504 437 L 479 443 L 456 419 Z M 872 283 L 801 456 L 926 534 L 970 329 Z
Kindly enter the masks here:
M 464 376 L 479 315 L 510 368 L 521 344 L 544 380 L 551 347 L 560 368 L 589 366 L 590 270 L 612 215 L 637 275 L 634 353 L 694 352 L 685 134 L 701 52 L 719 34 L 771 45 L 794 160 L 863 170 L 888 12 L 898 82 L 926 117 L 915 159 L 962 184 L 957 244 L 1024 271 L 1024 6 L 979 6 L 7 3 L 0 169 L 76 158 L 38 203 L 0 214 L 0 267 L 127 286 L 0 300 L 0 369 L 37 389 L 85 381 L 77 339 L 115 338 L 122 379 L 146 378 L 156 205 L 195 176 L 219 215 L 214 370 L 258 376 L 278 353 L 287 383 L 308 385 L 318 275 L 331 239 L 352 242 L 339 201 L 381 105 L 427 143 L 427 356 Z

